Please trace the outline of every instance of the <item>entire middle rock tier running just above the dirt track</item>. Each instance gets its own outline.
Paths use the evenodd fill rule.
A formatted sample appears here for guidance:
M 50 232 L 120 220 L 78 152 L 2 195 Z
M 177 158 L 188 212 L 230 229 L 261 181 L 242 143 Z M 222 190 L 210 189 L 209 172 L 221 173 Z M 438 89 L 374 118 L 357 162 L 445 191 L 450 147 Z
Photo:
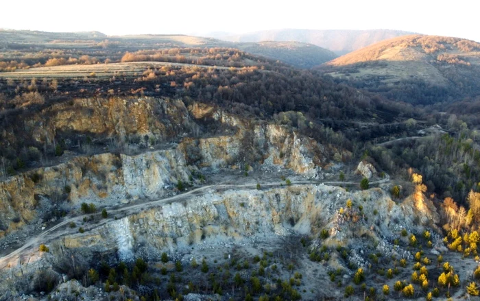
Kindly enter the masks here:
M 0 182 L 0 235 L 50 219 L 60 209 L 78 208 L 82 202 L 103 207 L 158 197 L 171 191 L 178 180 L 189 182 L 192 169 L 259 162 L 315 178 L 328 162 L 327 156 L 324 146 L 313 139 L 271 124 L 257 125 L 253 133 L 239 130 L 233 136 L 185 138 L 173 149 L 136 156 L 79 156 Z

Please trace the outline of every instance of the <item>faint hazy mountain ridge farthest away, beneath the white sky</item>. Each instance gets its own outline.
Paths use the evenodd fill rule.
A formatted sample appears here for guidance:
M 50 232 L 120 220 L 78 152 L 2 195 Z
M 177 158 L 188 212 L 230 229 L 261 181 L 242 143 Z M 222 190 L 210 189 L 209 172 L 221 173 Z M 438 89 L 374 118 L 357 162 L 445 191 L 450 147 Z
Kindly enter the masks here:
M 230 42 L 296 41 L 317 45 L 318 47 L 331 50 L 341 56 L 351 51 L 380 42 L 381 40 L 409 34 L 413 34 L 413 32 L 390 29 L 277 29 L 252 32 L 248 34 L 213 37 L 221 40 L 228 40 Z

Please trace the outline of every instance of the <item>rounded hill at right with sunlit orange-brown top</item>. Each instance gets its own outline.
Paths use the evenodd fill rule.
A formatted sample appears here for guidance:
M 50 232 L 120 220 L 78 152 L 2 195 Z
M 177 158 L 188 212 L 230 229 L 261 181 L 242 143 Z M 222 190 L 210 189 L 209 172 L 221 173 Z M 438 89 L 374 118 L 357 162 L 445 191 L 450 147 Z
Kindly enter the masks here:
M 455 101 L 480 93 L 480 43 L 443 36 L 402 36 L 348 53 L 320 69 L 397 101 Z

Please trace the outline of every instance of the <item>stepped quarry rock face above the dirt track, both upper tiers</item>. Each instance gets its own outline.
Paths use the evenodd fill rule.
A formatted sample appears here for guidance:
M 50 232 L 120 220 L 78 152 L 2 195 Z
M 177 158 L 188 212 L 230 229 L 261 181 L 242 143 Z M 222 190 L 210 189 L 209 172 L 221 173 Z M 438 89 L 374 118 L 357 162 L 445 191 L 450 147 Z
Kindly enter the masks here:
M 252 123 L 206 104 L 186 108 L 182 101 L 149 97 L 75 99 L 68 106 L 54 104 L 25 122 L 29 125 L 24 134 L 36 143 L 67 134 L 71 143 L 81 136 L 115 141 L 137 137 L 143 147 L 134 145 L 143 154 L 77 156 L 1 181 L 0 237 L 25 224 L 55 218 L 53 213 L 77 209 L 82 202 L 102 207 L 164 195 L 178 180 L 189 181 L 191 171 L 198 168 L 215 171 L 233 165 L 261 165 L 316 178 L 328 165 L 331 153 L 338 152 L 284 125 Z M 230 131 L 197 137 L 195 132 L 211 124 Z M 9 131 L 14 129 L 3 131 L 6 140 L 0 144 L 15 145 L 15 136 Z M 167 150 L 152 151 L 145 146 L 145 137 L 163 141 L 179 133 L 187 133 L 187 137 L 178 144 L 169 143 Z

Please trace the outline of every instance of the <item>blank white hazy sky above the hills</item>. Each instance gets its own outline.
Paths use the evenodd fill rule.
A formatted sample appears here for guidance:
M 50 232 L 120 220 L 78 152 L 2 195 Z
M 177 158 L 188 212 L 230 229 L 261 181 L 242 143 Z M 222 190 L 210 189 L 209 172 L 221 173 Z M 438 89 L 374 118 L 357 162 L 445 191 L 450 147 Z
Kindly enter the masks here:
M 480 41 L 475 0 L 1 0 L 0 28 L 104 34 L 400 29 Z

